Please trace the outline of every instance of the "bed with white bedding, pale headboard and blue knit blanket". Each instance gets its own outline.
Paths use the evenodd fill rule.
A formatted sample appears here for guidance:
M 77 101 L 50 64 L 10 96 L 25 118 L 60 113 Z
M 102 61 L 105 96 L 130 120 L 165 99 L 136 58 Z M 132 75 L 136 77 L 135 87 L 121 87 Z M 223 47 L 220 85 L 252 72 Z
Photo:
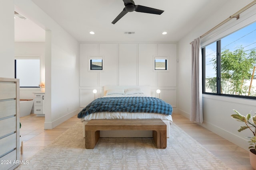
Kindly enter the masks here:
M 78 113 L 78 118 L 83 122 L 83 127 L 91 119 L 162 119 L 167 125 L 167 137 L 169 137 L 169 129 L 172 124 L 172 106 L 158 98 L 150 96 L 150 86 L 104 86 L 104 96 L 102 98 L 97 98 L 82 109 L 82 111 Z M 126 100 L 128 100 L 128 102 L 126 102 Z M 138 106 L 138 104 L 130 102 L 129 100 L 146 100 L 144 103 L 148 104 L 150 104 L 148 100 L 152 100 L 154 104 L 150 104 L 152 105 L 152 109 L 143 110 L 138 109 L 138 107 L 134 109 L 134 106 Z M 108 106 L 114 104 L 114 107 L 119 108 L 119 110 L 113 111 L 108 107 L 106 110 L 102 109 L 102 107 L 105 106 L 105 102 L 108 101 L 113 102 L 112 104 L 108 103 Z M 119 104 L 122 103 L 124 105 L 124 102 L 130 104 L 130 106 L 127 106 L 128 109 L 120 108 Z M 102 104 L 102 106 L 95 107 L 94 104 Z M 162 106 L 162 104 L 166 107 L 164 112 L 156 113 L 157 107 L 160 105 Z M 152 131 L 100 131 L 100 137 L 152 137 Z

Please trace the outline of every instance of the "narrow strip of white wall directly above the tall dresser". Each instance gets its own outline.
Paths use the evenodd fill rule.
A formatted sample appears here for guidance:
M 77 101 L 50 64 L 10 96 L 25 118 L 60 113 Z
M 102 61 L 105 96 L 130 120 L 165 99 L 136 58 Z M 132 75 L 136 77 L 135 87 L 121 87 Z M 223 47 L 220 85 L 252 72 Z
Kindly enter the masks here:
M 14 78 L 14 3 L 0 1 L 0 77 Z

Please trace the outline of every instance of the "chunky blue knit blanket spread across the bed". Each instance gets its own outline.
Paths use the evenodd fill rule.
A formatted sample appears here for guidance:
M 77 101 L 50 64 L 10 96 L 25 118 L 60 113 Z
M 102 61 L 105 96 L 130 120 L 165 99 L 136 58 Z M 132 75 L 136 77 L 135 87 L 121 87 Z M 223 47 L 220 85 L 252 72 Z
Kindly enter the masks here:
M 111 97 L 98 98 L 88 104 L 78 118 L 95 112 L 144 112 L 172 115 L 172 106 L 163 100 L 153 97 Z

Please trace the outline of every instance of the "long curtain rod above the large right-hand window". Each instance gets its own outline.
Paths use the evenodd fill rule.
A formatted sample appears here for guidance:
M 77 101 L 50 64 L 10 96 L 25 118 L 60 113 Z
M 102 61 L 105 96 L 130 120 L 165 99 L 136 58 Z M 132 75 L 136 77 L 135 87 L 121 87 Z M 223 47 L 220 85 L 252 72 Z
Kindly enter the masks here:
M 214 31 L 215 29 L 217 29 L 218 27 L 220 27 L 221 25 L 223 25 L 224 23 L 228 22 L 229 20 L 231 20 L 233 18 L 236 18 L 236 20 L 238 20 L 239 17 L 240 17 L 239 14 L 241 14 L 242 12 L 244 12 L 245 10 L 247 10 L 248 8 L 252 7 L 255 4 L 256 4 L 256 0 L 252 1 L 250 4 L 246 5 L 244 8 L 242 8 L 241 10 L 236 12 L 235 14 L 233 14 L 230 17 L 228 17 L 226 20 L 222 21 L 221 23 L 219 23 L 218 25 L 216 25 L 215 27 L 213 27 L 212 29 L 210 29 L 209 31 L 207 31 L 206 33 L 201 35 L 200 38 L 206 36 L 208 33 L 211 33 L 212 31 Z

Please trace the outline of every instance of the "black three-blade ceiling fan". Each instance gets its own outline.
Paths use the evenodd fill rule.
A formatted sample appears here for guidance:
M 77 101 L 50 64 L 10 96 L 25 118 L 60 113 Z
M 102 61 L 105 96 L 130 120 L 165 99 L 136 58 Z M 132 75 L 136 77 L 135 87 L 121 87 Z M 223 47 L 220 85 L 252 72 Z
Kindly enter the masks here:
M 122 12 L 112 21 L 113 24 L 115 24 L 118 20 L 120 20 L 125 14 L 128 12 L 144 12 L 144 13 L 149 13 L 149 14 L 162 14 L 164 11 L 163 10 L 158 10 L 155 8 L 150 8 L 146 6 L 141 6 L 141 5 L 135 5 L 133 0 L 123 0 L 124 1 L 124 9 Z

